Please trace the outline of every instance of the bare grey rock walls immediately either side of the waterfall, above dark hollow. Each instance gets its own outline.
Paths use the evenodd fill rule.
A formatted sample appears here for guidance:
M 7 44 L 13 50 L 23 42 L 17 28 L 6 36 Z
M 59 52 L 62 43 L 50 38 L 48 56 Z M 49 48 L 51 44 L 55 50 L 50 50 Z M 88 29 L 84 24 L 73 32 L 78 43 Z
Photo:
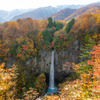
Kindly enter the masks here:
M 75 41 L 71 48 L 66 51 L 57 52 L 55 50 L 55 71 L 63 71 L 63 70 L 71 70 L 72 63 L 79 63 L 81 59 L 80 56 L 80 43 L 79 41 Z M 51 64 L 51 52 L 43 51 L 39 52 L 40 61 L 39 65 L 42 72 L 49 72 L 50 64 Z M 65 66 L 66 64 L 66 66 Z

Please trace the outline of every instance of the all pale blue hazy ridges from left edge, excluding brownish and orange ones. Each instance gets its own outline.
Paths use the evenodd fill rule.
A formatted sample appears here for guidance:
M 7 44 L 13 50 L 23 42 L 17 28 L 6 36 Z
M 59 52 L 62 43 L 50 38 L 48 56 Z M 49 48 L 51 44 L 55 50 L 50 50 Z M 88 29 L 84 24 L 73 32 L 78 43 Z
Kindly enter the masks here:
M 0 10 L 0 23 L 5 21 L 16 21 L 17 19 L 30 17 L 32 19 L 43 19 L 44 17 L 51 16 L 52 14 L 57 13 L 58 11 L 71 8 L 78 9 L 83 5 L 59 5 L 57 7 L 40 7 L 37 9 L 16 9 L 13 11 L 4 11 Z

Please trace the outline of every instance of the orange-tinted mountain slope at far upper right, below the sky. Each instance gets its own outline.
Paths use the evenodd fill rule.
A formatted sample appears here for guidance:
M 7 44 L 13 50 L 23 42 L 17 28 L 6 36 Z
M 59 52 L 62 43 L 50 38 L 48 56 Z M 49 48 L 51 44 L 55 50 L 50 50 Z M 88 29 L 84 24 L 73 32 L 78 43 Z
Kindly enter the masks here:
M 72 18 L 78 18 L 83 13 L 99 13 L 100 3 L 90 4 L 85 7 L 79 8 L 73 14 L 65 18 L 65 21 L 70 20 Z

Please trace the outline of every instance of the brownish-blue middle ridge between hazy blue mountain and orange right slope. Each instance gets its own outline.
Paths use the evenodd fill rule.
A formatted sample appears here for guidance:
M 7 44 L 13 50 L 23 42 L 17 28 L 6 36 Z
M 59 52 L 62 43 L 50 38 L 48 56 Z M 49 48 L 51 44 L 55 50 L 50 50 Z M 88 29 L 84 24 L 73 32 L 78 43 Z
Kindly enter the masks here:
M 63 9 L 50 17 L 52 17 L 54 20 L 64 20 L 66 17 L 70 16 L 75 11 L 76 11 L 76 9 L 66 8 L 66 9 Z

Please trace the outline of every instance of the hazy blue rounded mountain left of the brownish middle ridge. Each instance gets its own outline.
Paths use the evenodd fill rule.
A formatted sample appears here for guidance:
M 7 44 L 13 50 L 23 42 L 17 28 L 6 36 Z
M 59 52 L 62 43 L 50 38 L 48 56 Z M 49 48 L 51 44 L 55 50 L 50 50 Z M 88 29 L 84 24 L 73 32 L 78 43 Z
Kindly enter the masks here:
M 42 19 L 42 18 L 50 16 L 56 12 L 58 12 L 57 8 L 50 7 L 50 6 L 49 7 L 41 7 L 41 8 L 37 8 L 33 11 L 16 16 L 12 20 L 16 21 L 17 19 L 22 19 L 22 18 L 27 18 L 27 17 L 30 17 L 32 19 Z

